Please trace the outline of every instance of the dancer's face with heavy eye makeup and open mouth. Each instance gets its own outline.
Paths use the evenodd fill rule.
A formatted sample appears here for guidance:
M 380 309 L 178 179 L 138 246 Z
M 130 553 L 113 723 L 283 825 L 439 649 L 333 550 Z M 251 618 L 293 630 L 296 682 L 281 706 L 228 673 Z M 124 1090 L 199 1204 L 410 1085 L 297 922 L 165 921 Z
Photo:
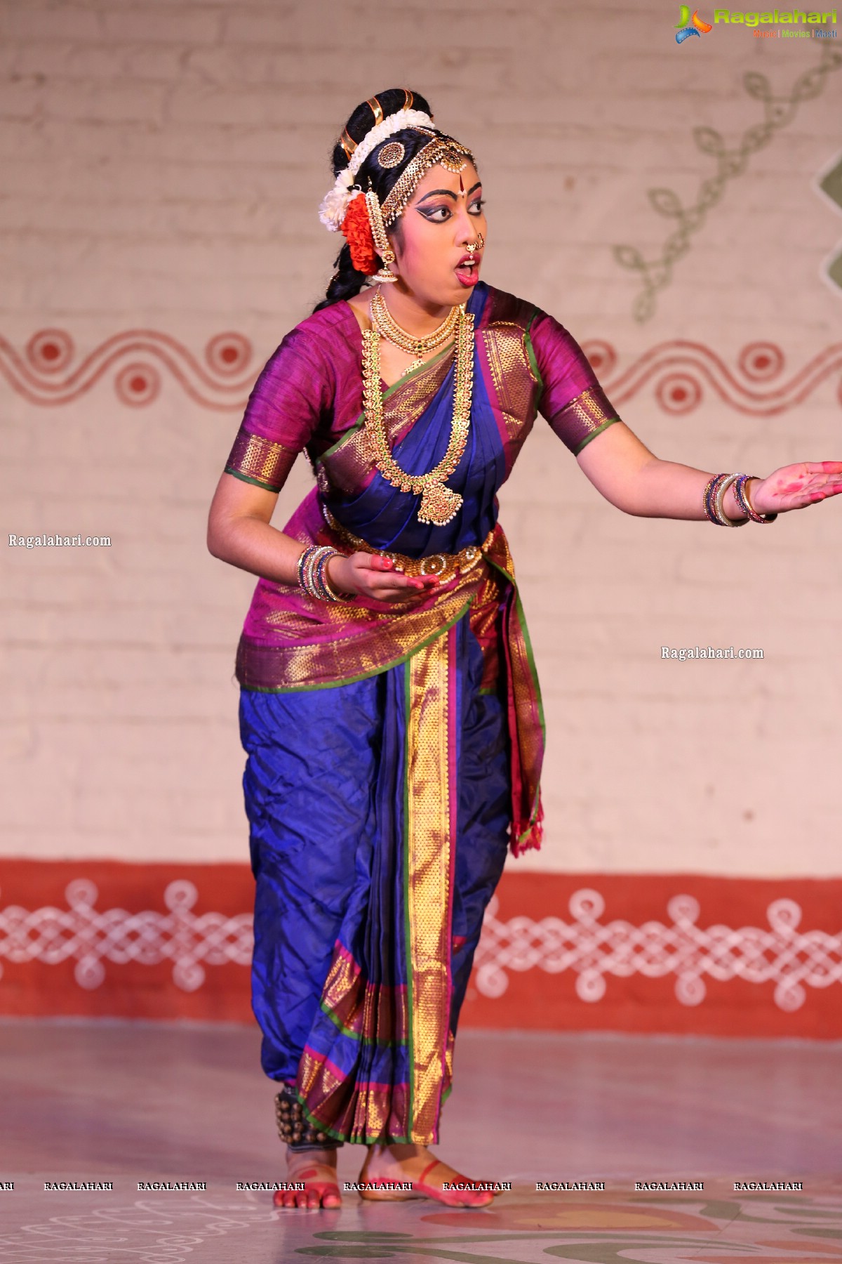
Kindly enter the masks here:
M 396 224 L 398 233 L 393 235 L 391 225 L 389 236 L 396 255 L 391 269 L 399 281 L 390 288 L 403 291 L 429 311 L 467 302 L 473 286 L 460 277 L 476 283 L 482 250 L 473 252 L 477 262 L 472 269 L 457 270 L 457 265 L 468 254 L 466 246 L 476 245 L 480 233 L 487 238 L 482 185 L 473 163 L 461 172 L 430 167 Z

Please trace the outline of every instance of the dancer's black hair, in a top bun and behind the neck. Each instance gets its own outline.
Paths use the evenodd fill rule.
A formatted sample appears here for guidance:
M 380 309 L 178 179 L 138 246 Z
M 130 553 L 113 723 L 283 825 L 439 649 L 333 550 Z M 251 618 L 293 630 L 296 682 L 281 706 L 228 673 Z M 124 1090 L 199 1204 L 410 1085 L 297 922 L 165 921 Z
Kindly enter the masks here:
M 420 92 L 413 92 L 413 101 L 410 109 L 422 110 L 424 114 L 429 114 L 432 118 L 432 110 L 425 97 Z M 382 116 L 389 118 L 390 114 L 396 114 L 398 110 L 403 110 L 406 102 L 406 91 L 403 87 L 390 87 L 385 92 L 377 92 L 377 101 L 380 101 L 380 107 L 382 110 Z M 345 130 L 356 140 L 357 144 L 362 140 L 367 131 L 375 125 L 375 114 L 367 101 L 359 105 L 348 121 L 345 125 Z M 446 137 L 447 133 L 442 131 L 439 128 L 433 125 L 428 130 L 436 131 L 438 137 Z M 451 138 L 453 139 L 453 138 Z M 429 135 L 424 131 L 414 131 L 412 128 L 404 128 L 400 131 L 395 131 L 391 137 L 382 142 L 382 144 L 389 144 L 390 142 L 399 140 L 404 149 L 404 157 L 398 163 L 396 167 L 381 167 L 377 162 L 377 153 L 380 152 L 380 145 L 375 145 L 369 157 L 362 162 L 360 169 L 355 176 L 355 183 L 360 185 L 364 190 L 369 188 L 369 179 L 371 179 L 371 187 L 380 200 L 382 206 L 386 200 L 386 195 L 395 186 L 398 177 L 401 174 L 404 168 L 415 157 L 419 149 L 429 144 Z M 341 171 L 348 166 L 348 155 L 342 148 L 341 143 L 337 142 L 333 147 L 331 154 L 331 168 L 333 171 L 333 178 L 340 174 Z M 396 220 L 390 225 L 389 231 L 400 239 L 401 230 L 401 216 L 399 215 Z M 341 298 L 351 298 L 353 295 L 359 295 L 362 286 L 369 279 L 365 272 L 357 272 L 357 269 L 351 263 L 351 246 L 346 241 L 340 250 L 336 262 L 336 272 L 331 278 L 331 283 L 327 287 L 327 293 L 324 298 L 316 305 L 314 312 L 319 311 L 322 307 L 329 307 L 331 303 L 338 302 Z

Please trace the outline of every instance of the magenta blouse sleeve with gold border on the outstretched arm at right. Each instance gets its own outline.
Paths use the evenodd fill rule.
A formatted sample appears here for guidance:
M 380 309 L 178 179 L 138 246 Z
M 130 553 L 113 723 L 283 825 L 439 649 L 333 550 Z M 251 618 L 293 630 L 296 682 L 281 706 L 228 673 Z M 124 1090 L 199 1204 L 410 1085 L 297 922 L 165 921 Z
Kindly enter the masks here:
M 526 334 L 542 380 L 538 411 L 574 456 L 620 421 L 588 358 L 563 325 L 537 310 Z

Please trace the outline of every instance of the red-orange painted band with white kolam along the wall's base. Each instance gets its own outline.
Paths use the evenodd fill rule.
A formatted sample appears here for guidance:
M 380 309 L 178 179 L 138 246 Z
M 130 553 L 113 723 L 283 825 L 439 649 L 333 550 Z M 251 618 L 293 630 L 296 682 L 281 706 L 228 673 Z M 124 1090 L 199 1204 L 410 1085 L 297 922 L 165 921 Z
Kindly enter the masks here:
M 250 1020 L 247 865 L 0 861 L 0 1012 Z M 504 873 L 462 1023 L 842 1035 L 842 878 Z

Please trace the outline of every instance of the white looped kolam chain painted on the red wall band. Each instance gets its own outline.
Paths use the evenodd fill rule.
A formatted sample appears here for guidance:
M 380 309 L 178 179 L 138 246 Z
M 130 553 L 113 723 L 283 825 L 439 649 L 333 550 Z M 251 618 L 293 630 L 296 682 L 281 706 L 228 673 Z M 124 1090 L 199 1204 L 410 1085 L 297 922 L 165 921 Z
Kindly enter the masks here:
M 165 913 L 98 909 L 97 887 L 90 878 L 74 878 L 64 896 L 66 909 L 0 906 L 0 977 L 4 958 L 16 964 L 73 961 L 76 983 L 92 991 L 104 982 L 109 963 L 167 962 L 175 987 L 194 992 L 206 983 L 206 966 L 251 964 L 251 915 L 196 914 L 198 890 L 188 880 L 167 885 Z M 703 929 L 697 925 L 698 900 L 680 894 L 668 901 L 669 920 L 639 927 L 617 918 L 603 921 L 605 900 L 588 887 L 571 895 L 569 920 L 523 914 L 501 920 L 497 911 L 499 900 L 492 896 L 472 976 L 476 990 L 495 1000 L 505 996 L 511 972 L 533 969 L 573 971 L 576 995 L 590 1004 L 605 997 L 611 976 L 674 977 L 675 1000 L 685 1006 L 703 1004 L 706 976 L 720 982 L 774 982 L 774 1004 L 786 1012 L 802 1007 L 807 988 L 842 982 L 842 934 L 799 929 L 802 909 L 789 899 L 769 905 L 765 928 Z

